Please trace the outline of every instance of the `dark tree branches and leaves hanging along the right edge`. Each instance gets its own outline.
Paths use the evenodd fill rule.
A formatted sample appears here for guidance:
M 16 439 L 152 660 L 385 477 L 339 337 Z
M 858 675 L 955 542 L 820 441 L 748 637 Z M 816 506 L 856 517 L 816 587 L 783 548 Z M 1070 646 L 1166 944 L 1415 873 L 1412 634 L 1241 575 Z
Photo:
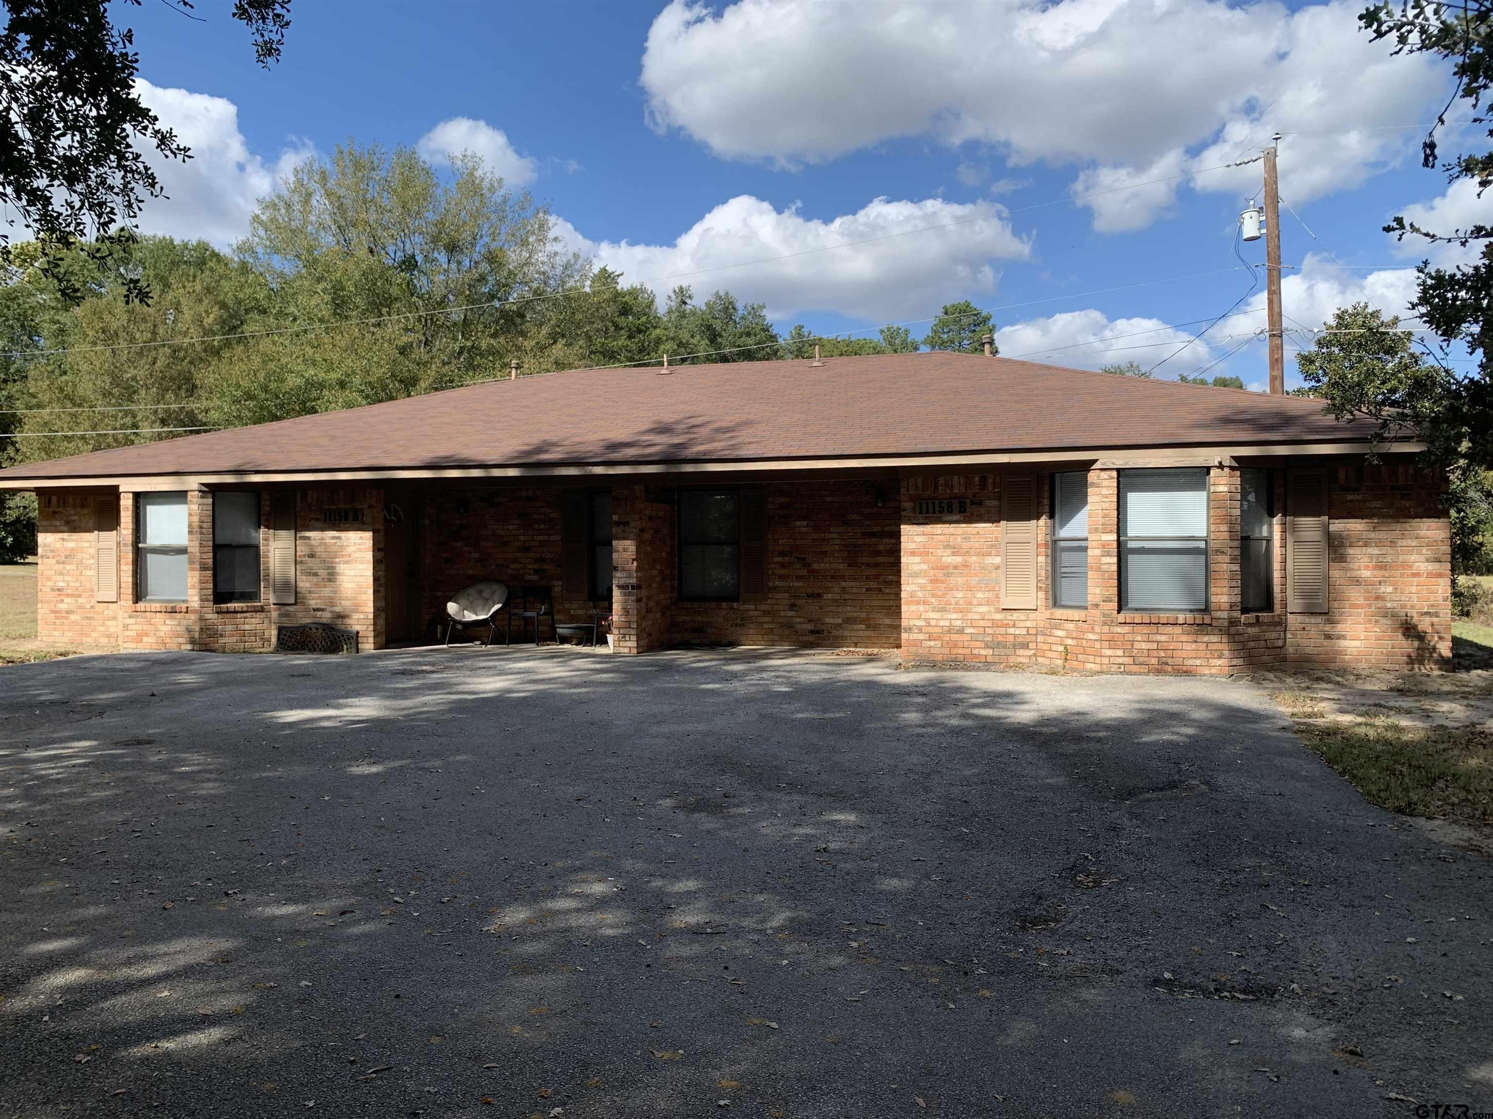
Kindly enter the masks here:
M 1433 0 L 1402 0 L 1397 6 L 1377 3 L 1359 16 L 1362 27 L 1375 40 L 1390 40 L 1394 54 L 1430 54 L 1451 64 L 1456 82 L 1453 101 L 1460 101 L 1474 124 L 1486 125 L 1490 118 L 1484 104 L 1493 93 L 1493 6 L 1487 0 L 1435 3 Z M 1448 104 L 1448 109 L 1451 106 Z M 1421 163 L 1438 166 L 1436 127 L 1421 145 Z M 1493 128 L 1487 131 L 1493 137 Z M 1493 152 L 1468 152 L 1441 164 L 1450 182 L 1471 179 L 1481 195 L 1493 185 Z M 1456 243 L 1478 246 L 1469 264 L 1456 269 L 1432 267 L 1423 261 L 1418 269 L 1415 300 L 1411 309 L 1421 318 L 1444 348 L 1465 345 L 1478 361 L 1475 374 L 1444 373 L 1435 377 L 1432 400 L 1411 398 L 1403 380 L 1387 374 L 1383 395 L 1374 385 L 1351 379 L 1344 392 L 1327 383 L 1323 395 L 1335 415 L 1366 415 L 1380 422 L 1384 434 L 1411 430 L 1429 446 L 1429 460 L 1436 467 L 1463 470 L 1462 463 L 1493 466 L 1493 224 L 1477 222 L 1462 230 L 1427 230 L 1403 216 L 1384 227 L 1397 237 L 1417 237 L 1426 243 Z M 1415 374 L 1421 377 L 1421 374 Z M 1397 410 L 1394 401 L 1408 406 Z

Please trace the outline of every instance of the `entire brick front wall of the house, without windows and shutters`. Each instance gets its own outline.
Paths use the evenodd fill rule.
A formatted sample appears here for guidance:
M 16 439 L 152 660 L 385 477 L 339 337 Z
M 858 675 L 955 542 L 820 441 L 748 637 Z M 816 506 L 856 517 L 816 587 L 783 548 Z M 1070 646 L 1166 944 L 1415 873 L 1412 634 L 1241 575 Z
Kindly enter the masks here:
M 1444 482 L 1408 463 L 1329 464 L 1330 613 L 1287 615 L 1284 470 L 1277 470 L 1277 610 L 1239 610 L 1239 473 L 1209 470 L 1209 609 L 1120 610 L 1118 473 L 1090 470 L 1088 604 L 1051 601 L 1050 474 L 1042 494 L 1035 610 L 1000 601 L 1000 474 L 782 482 L 767 488 L 767 597 L 679 603 L 675 512 L 645 486 L 614 489 L 617 646 L 669 643 L 902 646 L 905 661 L 982 661 L 1099 671 L 1227 673 L 1277 664 L 1438 667 L 1451 645 L 1450 524 Z M 561 588 L 558 486 L 430 489 L 421 513 L 421 604 L 479 579 L 543 583 L 560 621 L 590 618 Z M 918 513 L 923 498 L 964 498 L 964 515 Z M 327 509 L 358 519 L 328 521 Z M 261 495 L 261 603 L 212 603 L 212 494 L 188 492 L 185 603 L 136 601 L 136 495 L 119 495 L 119 601 L 97 603 L 94 497 L 43 494 L 39 633 L 127 649 L 267 649 L 276 624 L 355 628 L 384 642 L 384 492 L 309 489 L 297 501 L 297 601 L 269 604 L 269 494 Z

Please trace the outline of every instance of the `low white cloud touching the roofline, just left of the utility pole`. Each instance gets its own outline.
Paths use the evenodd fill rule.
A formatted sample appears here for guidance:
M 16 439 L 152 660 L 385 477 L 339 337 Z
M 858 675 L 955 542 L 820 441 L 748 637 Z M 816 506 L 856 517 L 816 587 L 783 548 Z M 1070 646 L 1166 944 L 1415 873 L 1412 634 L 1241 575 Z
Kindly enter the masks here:
M 1226 324 L 1220 324 L 1226 325 Z M 1220 330 L 1220 334 L 1230 331 Z M 1191 373 L 1218 354 L 1206 339 L 1182 348 L 1188 331 L 1160 319 L 1111 319 L 1100 310 L 1069 310 L 996 330 L 1000 357 L 1072 369 L 1099 369 L 1138 361 L 1150 369 L 1171 357 L 1157 376 Z M 1175 357 L 1172 357 L 1175 355 Z

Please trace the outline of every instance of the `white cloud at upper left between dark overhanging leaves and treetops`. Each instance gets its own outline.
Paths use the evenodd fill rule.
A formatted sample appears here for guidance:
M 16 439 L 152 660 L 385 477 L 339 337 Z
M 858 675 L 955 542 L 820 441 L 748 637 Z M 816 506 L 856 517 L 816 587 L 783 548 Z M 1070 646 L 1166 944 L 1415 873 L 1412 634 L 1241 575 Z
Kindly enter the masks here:
M 239 131 L 237 106 L 222 97 L 161 88 L 143 79 L 136 81 L 136 93 L 191 148 L 191 158 L 182 163 L 142 145 L 167 195 L 146 201 L 139 221 L 142 233 L 231 248 L 248 233 L 258 200 L 297 163 L 314 155 L 311 143 L 300 140 L 266 163 L 249 151 Z

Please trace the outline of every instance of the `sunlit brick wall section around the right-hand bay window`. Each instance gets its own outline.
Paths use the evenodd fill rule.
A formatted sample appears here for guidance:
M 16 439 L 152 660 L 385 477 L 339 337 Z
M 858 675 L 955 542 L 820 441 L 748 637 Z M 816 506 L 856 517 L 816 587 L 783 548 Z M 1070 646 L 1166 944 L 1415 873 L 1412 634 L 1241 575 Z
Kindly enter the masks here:
M 1023 471 L 1030 473 L 1030 471 Z M 1097 671 L 1232 673 L 1268 665 L 1439 667 L 1450 656 L 1450 524 L 1441 483 L 1408 463 L 1335 464 L 1332 612 L 1285 613 L 1284 470 L 1275 471 L 1275 609 L 1242 613 L 1239 471 L 1209 470 L 1209 607 L 1120 610 L 1118 471 L 1088 473 L 1088 609 L 1051 607 L 1050 506 L 1038 533 L 1036 610 L 1000 603 L 1000 476 L 903 479 L 903 661 L 1038 664 Z M 1042 494 L 1050 476 L 1036 474 Z M 967 497 L 967 515 L 917 501 Z M 1044 498 L 1045 501 L 1045 498 Z

